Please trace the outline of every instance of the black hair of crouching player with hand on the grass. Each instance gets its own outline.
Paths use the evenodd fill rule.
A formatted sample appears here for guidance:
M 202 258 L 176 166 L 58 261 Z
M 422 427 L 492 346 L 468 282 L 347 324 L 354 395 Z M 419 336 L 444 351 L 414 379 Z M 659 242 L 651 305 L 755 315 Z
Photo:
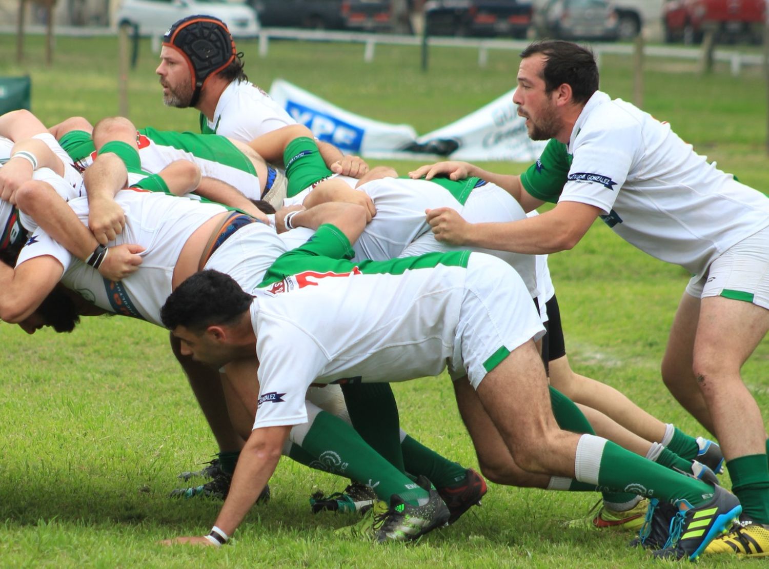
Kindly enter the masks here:
M 252 298 L 230 275 L 200 271 L 168 296 L 160 319 L 168 330 L 184 326 L 201 332 L 211 325 L 235 322 L 248 310 Z

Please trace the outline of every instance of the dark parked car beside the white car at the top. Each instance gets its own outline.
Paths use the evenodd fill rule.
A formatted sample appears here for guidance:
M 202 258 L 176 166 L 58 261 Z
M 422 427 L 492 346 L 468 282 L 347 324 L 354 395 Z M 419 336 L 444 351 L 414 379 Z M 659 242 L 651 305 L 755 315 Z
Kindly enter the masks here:
M 259 22 L 265 27 L 341 29 L 342 0 L 254 0 Z

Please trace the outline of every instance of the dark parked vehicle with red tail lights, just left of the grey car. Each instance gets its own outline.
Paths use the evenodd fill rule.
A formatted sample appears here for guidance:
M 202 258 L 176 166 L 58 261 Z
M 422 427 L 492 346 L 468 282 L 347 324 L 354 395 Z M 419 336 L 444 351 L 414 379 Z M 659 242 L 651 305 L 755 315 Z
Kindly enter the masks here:
M 523 0 L 428 0 L 424 4 L 431 35 L 525 38 L 532 14 L 531 2 Z

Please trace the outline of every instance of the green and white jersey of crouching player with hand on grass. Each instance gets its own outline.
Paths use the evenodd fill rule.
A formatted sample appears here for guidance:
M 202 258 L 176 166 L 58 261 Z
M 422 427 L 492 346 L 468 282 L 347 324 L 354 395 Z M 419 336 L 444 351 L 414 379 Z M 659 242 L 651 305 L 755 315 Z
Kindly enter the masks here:
M 461 358 L 455 335 L 469 251 L 359 263 L 352 254 L 337 228 L 322 225 L 255 291 L 255 428 L 305 422 L 311 383 L 405 381 Z

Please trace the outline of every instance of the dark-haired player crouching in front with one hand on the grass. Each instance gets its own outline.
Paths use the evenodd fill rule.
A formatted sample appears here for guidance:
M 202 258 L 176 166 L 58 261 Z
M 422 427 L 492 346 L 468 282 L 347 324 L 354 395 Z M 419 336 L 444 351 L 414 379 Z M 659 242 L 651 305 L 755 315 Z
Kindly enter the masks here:
M 275 471 L 291 427 L 307 421 L 310 384 L 404 381 L 439 374 L 447 363 L 469 388 L 457 401 L 479 457 L 506 453 L 527 471 L 674 501 L 681 532 L 671 549 L 680 557 L 697 558 L 739 515 L 736 497 L 721 487 L 558 428 L 534 345 L 544 328 L 504 261 L 469 251 L 358 263 L 348 261 L 352 255 L 345 234 L 323 225 L 282 255 L 253 294 L 202 271 L 169 296 L 161 317 L 183 351 L 211 365 L 235 360 L 234 388 L 244 401 L 258 400 L 259 411 L 211 533 L 168 543 L 228 541 Z M 249 355 L 258 359 L 258 378 Z M 434 491 L 417 504 L 392 497 L 378 538 L 431 531 L 444 519 L 440 504 Z

